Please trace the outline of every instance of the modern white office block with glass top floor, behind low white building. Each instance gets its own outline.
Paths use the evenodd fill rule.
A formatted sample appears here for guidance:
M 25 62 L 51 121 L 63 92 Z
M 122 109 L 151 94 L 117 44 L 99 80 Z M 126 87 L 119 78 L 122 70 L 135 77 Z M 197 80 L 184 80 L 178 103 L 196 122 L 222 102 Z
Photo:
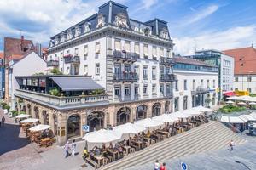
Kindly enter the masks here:
M 234 59 L 215 49 L 195 51 L 193 59 L 200 59 L 207 64 L 218 66 L 218 99 L 222 99 L 224 92 L 233 91 Z

